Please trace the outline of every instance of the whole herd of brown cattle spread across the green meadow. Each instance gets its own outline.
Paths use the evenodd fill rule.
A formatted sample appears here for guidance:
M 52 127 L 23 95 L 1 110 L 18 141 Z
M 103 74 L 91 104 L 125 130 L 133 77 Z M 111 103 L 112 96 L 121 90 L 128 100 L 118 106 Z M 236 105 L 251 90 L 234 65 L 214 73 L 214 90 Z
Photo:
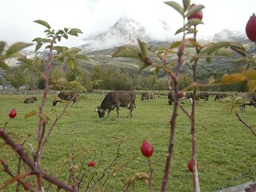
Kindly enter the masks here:
M 193 93 L 182 93 L 181 101 L 189 100 L 192 103 Z M 215 101 L 219 99 L 226 98 L 228 95 L 226 93 L 208 93 L 208 92 L 197 92 L 195 96 L 195 100 L 197 104 L 200 99 L 203 99 L 203 102 L 207 102 L 210 98 L 210 95 L 215 96 Z M 250 98 L 247 93 L 237 93 L 232 96 L 240 96 L 241 98 L 248 99 L 249 104 L 242 104 L 240 106 L 240 111 L 245 112 L 245 105 L 256 107 L 256 93 L 252 94 Z M 72 105 L 75 103 L 77 106 L 77 102 L 79 102 L 80 94 L 79 92 L 72 91 L 61 91 L 57 98 L 53 100 L 53 106 L 56 106 L 58 102 L 61 101 L 72 101 Z M 136 94 L 134 91 L 111 91 L 106 94 L 105 98 L 101 102 L 101 105 L 95 108 L 95 111 L 98 112 L 100 118 L 105 116 L 105 112 L 108 111 L 109 116 L 110 112 L 116 109 L 117 117 L 119 117 L 119 107 L 126 107 L 129 109 L 129 114 L 127 117 L 132 117 L 132 111 L 135 109 L 135 99 Z M 24 103 L 35 103 L 37 101 L 36 97 L 26 98 Z M 156 93 L 154 91 L 146 91 L 141 95 L 141 101 L 156 101 Z M 168 103 L 169 105 L 173 104 L 174 98 L 173 95 L 168 93 Z

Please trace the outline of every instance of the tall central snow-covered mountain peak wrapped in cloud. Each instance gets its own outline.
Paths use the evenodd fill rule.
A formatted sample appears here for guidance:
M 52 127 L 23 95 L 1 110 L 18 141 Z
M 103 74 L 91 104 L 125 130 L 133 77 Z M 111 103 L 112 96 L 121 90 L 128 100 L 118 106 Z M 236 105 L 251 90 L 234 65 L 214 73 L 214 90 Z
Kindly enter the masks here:
M 85 43 L 81 46 L 84 51 L 92 49 L 107 49 L 123 44 L 137 44 L 138 38 L 144 42 L 149 41 L 166 41 L 166 35 L 170 34 L 170 27 L 163 20 L 158 19 L 155 28 L 157 36 L 152 35 L 149 30 L 143 27 L 139 22 L 129 17 L 121 17 L 114 25 L 108 28 L 105 33 L 90 36 L 86 38 Z M 155 32 L 155 31 L 154 31 Z

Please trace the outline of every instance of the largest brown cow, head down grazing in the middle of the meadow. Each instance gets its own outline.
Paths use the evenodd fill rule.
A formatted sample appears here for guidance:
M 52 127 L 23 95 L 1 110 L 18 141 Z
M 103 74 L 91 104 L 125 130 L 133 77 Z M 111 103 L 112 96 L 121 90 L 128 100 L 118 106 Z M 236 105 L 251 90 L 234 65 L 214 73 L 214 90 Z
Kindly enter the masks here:
M 117 118 L 119 117 L 119 107 L 126 107 L 129 109 L 128 117 L 132 117 L 132 110 L 135 108 L 136 94 L 134 91 L 111 91 L 106 94 L 105 99 L 101 102 L 100 107 L 96 107 L 95 111 L 98 111 L 100 118 L 103 118 L 106 110 L 110 112 L 116 108 Z

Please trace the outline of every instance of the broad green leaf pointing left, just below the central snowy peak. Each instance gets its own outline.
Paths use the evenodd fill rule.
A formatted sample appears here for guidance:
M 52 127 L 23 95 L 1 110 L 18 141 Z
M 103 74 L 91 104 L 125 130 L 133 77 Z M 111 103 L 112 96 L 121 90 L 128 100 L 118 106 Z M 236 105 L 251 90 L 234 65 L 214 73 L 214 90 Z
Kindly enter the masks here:
M 140 59 L 140 50 L 133 45 L 124 45 L 114 52 L 112 57 L 130 57 Z

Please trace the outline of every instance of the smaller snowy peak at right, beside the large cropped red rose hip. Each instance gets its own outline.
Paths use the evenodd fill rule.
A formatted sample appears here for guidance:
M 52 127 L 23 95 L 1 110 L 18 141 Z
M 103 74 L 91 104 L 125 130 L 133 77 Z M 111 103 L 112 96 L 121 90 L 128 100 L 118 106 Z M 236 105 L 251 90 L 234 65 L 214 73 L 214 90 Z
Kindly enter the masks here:
M 247 40 L 245 33 L 223 29 L 213 35 L 212 41 L 244 41 Z

